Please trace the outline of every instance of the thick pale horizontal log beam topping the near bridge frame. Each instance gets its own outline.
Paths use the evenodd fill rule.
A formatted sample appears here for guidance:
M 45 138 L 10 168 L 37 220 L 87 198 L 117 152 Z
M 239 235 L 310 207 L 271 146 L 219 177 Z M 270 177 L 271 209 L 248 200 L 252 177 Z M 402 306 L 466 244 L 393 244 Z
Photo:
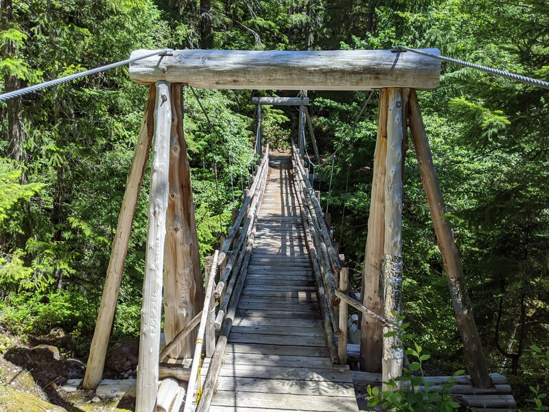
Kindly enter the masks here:
M 439 49 L 425 51 L 440 54 Z M 149 52 L 136 50 L 131 57 Z M 390 50 L 176 50 L 171 56 L 130 65 L 130 79 L 135 82 L 164 80 L 202 89 L 434 89 L 440 73 L 439 60 Z

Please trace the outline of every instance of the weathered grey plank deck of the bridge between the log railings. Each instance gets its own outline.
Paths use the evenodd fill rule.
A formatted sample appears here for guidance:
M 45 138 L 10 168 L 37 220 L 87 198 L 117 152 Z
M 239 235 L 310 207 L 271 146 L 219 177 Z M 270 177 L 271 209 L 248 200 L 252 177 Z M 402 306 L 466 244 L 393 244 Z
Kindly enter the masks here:
M 210 411 L 358 411 L 349 368 L 329 358 L 290 157 L 274 156 L 269 166 Z

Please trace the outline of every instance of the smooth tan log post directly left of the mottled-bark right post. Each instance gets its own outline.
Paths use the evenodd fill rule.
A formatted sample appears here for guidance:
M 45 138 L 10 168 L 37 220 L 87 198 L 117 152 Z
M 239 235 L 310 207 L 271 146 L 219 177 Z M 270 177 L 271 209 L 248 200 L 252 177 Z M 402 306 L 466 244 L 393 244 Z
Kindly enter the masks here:
M 385 242 L 385 161 L 387 154 L 388 89 L 379 92 L 377 141 L 373 157 L 372 194 L 368 218 L 365 262 L 362 272 L 363 303 L 375 314 L 383 316 L 384 304 L 379 293 Z M 362 317 L 360 325 L 360 370 L 382 371 L 383 327 L 369 317 Z

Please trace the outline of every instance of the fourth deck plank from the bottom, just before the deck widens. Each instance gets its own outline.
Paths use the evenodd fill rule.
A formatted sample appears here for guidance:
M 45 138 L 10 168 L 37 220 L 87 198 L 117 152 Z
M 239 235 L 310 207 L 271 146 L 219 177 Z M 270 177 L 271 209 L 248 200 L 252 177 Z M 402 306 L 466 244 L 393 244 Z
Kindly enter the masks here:
M 264 365 L 271 367 L 312 367 L 320 369 L 332 367 L 330 358 L 323 358 L 321 356 L 242 354 L 228 352 L 225 355 L 224 365 L 231 364 Z M 340 365 L 340 367 L 342 367 L 342 365 Z

